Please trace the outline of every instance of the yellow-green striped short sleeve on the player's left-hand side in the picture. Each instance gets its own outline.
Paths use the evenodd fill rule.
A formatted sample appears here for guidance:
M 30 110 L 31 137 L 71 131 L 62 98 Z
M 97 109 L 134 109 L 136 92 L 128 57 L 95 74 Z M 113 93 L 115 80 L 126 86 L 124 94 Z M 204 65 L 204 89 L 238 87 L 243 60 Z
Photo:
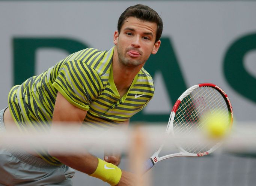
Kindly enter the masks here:
M 90 103 L 100 94 L 103 83 L 98 73 L 85 63 L 65 62 L 59 69 L 53 87 L 72 105 L 89 110 Z

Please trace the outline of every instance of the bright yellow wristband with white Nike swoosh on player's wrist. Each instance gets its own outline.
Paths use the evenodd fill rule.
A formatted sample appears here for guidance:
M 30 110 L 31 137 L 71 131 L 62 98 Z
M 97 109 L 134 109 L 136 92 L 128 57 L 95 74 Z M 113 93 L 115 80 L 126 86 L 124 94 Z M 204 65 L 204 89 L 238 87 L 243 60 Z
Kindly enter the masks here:
M 96 177 L 114 186 L 120 181 L 122 171 L 116 165 L 105 162 L 98 158 L 98 167 L 96 168 L 95 172 L 89 176 Z

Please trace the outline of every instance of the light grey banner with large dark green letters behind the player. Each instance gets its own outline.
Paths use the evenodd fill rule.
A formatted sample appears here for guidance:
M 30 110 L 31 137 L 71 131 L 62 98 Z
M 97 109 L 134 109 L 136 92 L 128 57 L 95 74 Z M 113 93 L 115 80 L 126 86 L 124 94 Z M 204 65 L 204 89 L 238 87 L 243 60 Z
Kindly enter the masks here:
M 0 106 L 15 84 L 67 55 L 108 50 L 120 14 L 134 4 L 155 9 L 164 30 L 160 51 L 145 64 L 155 96 L 132 121 L 166 122 L 188 87 L 219 85 L 238 121 L 256 120 L 256 1 L 0 0 Z

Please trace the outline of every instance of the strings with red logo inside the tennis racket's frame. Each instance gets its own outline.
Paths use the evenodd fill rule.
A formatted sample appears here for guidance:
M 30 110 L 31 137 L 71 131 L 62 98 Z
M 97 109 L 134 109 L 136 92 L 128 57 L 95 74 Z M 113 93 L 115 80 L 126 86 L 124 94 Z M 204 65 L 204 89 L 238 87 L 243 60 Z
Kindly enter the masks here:
M 208 112 L 214 113 L 218 110 L 222 114 L 221 118 L 229 123 L 229 110 L 223 96 L 211 87 L 195 89 L 181 101 L 173 122 L 174 134 L 188 135 L 194 130 L 200 131 L 206 123 L 200 123 L 200 118 Z M 216 144 L 200 142 L 194 145 L 181 145 L 187 152 L 200 153 L 208 151 Z

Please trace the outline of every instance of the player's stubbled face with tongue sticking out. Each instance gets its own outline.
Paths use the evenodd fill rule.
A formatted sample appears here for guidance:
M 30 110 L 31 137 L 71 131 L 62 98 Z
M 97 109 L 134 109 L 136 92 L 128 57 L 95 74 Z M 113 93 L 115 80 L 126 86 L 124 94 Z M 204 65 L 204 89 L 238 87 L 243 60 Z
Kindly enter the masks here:
M 124 21 L 120 33 L 115 31 L 119 62 L 128 67 L 144 64 L 150 54 L 156 54 L 160 40 L 155 43 L 157 24 L 129 17 Z

